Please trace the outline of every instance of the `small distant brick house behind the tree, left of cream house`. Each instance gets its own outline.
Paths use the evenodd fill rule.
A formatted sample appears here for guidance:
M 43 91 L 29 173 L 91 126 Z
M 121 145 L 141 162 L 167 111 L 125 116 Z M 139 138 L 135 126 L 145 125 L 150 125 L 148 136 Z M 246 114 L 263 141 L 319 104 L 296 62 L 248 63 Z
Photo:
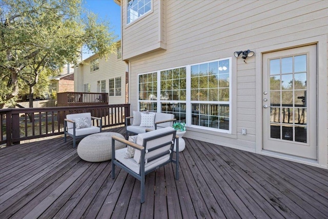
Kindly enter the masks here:
M 50 78 L 49 93 L 74 92 L 74 72 Z

